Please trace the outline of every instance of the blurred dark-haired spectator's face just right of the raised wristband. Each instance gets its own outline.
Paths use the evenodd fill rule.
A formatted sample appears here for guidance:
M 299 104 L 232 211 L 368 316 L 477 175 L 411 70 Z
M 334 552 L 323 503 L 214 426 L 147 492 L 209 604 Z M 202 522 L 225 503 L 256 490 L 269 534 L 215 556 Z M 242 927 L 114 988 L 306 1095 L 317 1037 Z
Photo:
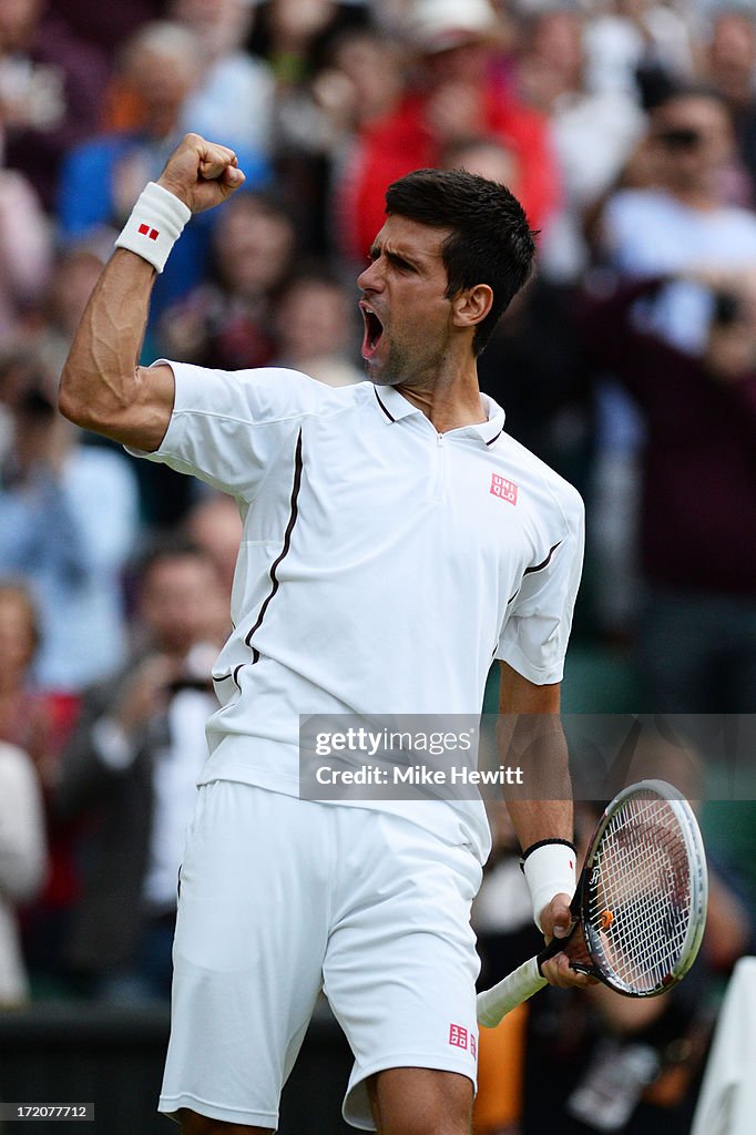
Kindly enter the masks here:
M 277 287 L 294 252 L 288 218 L 250 196 L 234 197 L 215 233 L 218 271 L 229 291 L 255 297 Z

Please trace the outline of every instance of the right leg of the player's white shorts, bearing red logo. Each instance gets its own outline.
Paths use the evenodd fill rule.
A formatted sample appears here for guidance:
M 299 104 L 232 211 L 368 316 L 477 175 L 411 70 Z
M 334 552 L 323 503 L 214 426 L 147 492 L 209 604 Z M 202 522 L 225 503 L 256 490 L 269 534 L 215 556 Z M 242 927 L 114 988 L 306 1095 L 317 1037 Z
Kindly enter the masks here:
M 351 836 L 324 986 L 355 1058 L 344 1116 L 370 1127 L 368 1084 L 379 1073 L 403 1083 L 410 1069 L 472 1096 L 480 964 L 470 905 L 480 865 L 468 847 L 392 815 L 363 816 Z

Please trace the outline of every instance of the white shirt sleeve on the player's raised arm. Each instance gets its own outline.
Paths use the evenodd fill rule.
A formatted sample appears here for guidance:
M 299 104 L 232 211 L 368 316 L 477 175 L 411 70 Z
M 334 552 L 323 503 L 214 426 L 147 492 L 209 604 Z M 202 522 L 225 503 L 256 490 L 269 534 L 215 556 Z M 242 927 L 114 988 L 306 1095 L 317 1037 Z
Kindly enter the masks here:
M 171 368 L 176 380 L 166 436 L 154 453 L 128 453 L 247 502 L 302 419 L 328 410 L 328 388 L 299 371 L 211 370 L 166 359 L 154 365 L 160 363 Z

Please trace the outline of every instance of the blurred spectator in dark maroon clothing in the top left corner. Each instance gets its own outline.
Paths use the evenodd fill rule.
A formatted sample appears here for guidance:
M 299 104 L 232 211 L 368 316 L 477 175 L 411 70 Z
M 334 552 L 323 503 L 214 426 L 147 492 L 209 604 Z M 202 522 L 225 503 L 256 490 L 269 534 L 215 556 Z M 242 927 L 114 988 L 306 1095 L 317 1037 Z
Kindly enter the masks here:
M 0 135 L 8 166 L 49 209 L 60 162 L 96 128 L 108 70 L 104 57 L 47 9 L 47 0 L 0 3 Z

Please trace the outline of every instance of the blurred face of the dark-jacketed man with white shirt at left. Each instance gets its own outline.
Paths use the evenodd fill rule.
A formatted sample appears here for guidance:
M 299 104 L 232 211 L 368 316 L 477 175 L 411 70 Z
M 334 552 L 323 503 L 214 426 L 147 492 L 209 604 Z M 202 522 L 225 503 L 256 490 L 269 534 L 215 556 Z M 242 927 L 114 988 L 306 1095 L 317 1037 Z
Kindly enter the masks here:
M 196 642 L 217 632 L 219 605 L 227 597 L 209 557 L 194 554 L 161 556 L 142 580 L 140 613 L 156 647 L 185 655 Z

